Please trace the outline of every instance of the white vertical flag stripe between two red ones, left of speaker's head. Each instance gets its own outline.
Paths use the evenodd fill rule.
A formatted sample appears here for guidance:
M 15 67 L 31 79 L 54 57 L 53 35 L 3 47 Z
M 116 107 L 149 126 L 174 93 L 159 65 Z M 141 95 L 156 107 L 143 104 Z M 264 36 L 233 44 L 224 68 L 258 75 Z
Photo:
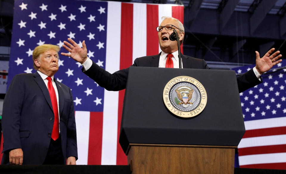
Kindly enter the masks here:
M 147 4 L 133 4 L 133 51 L 132 63 L 138 57 L 146 56 L 147 50 Z

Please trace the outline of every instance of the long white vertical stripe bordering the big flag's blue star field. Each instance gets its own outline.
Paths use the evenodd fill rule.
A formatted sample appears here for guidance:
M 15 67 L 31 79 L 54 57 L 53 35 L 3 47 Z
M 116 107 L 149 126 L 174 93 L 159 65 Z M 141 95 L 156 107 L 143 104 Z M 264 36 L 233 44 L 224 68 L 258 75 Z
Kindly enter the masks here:
M 110 73 L 119 70 L 120 25 L 121 2 L 108 1 L 105 69 Z M 104 90 L 102 165 L 116 165 L 118 94 L 117 91 Z

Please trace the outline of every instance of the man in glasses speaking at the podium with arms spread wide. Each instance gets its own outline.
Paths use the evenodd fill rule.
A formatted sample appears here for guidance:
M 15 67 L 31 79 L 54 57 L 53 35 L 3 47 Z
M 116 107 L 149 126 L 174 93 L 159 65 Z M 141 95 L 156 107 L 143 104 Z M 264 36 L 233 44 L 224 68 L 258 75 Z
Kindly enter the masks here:
M 169 36 L 173 32 L 172 29 L 177 30 L 179 40 L 182 43 L 184 39 L 183 24 L 178 19 L 165 18 L 161 25 L 157 27 L 159 44 L 162 52 L 155 56 L 137 58 L 131 66 L 179 68 L 177 42 L 169 39 Z M 129 68 L 110 74 L 87 57 L 85 41 L 83 41 L 83 48 L 80 48 L 80 46 L 72 39 L 68 38 L 68 40 L 71 44 L 64 41 L 63 43 L 66 45 L 63 45 L 63 47 L 70 53 L 61 53 L 62 55 L 72 57 L 77 62 L 80 62 L 83 65 L 83 72 L 106 90 L 118 91 L 125 89 Z M 260 78 L 260 75 L 282 61 L 280 59 L 282 57 L 282 55 L 279 54 L 280 51 L 276 51 L 271 55 L 274 50 L 275 49 L 272 48 L 262 58 L 259 57 L 259 53 L 256 51 L 256 67 L 237 77 L 239 92 L 243 92 L 244 90 L 261 83 L 262 79 Z M 182 67 L 210 69 L 203 59 L 185 55 L 182 55 Z

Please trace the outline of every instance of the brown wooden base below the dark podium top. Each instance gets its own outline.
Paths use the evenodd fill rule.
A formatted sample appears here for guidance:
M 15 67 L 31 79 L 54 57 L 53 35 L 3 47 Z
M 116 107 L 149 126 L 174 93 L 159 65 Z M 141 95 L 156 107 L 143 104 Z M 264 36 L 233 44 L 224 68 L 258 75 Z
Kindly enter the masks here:
M 132 174 L 233 174 L 234 146 L 130 144 Z

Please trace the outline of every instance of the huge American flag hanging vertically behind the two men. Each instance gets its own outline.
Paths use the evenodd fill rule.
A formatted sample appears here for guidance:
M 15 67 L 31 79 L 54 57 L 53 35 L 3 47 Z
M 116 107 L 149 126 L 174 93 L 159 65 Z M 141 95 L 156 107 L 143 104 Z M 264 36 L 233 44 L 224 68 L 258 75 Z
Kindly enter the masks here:
M 184 7 L 113 1 L 15 0 L 8 85 L 16 74 L 34 73 L 33 49 L 62 46 L 68 37 L 110 73 L 134 59 L 160 51 L 156 27 L 162 16 L 184 21 Z M 60 52 L 66 52 L 61 47 Z M 69 57 L 59 57 L 55 78 L 72 90 L 77 126 L 77 164 L 127 164 L 119 143 L 124 90 L 109 92 L 81 72 Z

